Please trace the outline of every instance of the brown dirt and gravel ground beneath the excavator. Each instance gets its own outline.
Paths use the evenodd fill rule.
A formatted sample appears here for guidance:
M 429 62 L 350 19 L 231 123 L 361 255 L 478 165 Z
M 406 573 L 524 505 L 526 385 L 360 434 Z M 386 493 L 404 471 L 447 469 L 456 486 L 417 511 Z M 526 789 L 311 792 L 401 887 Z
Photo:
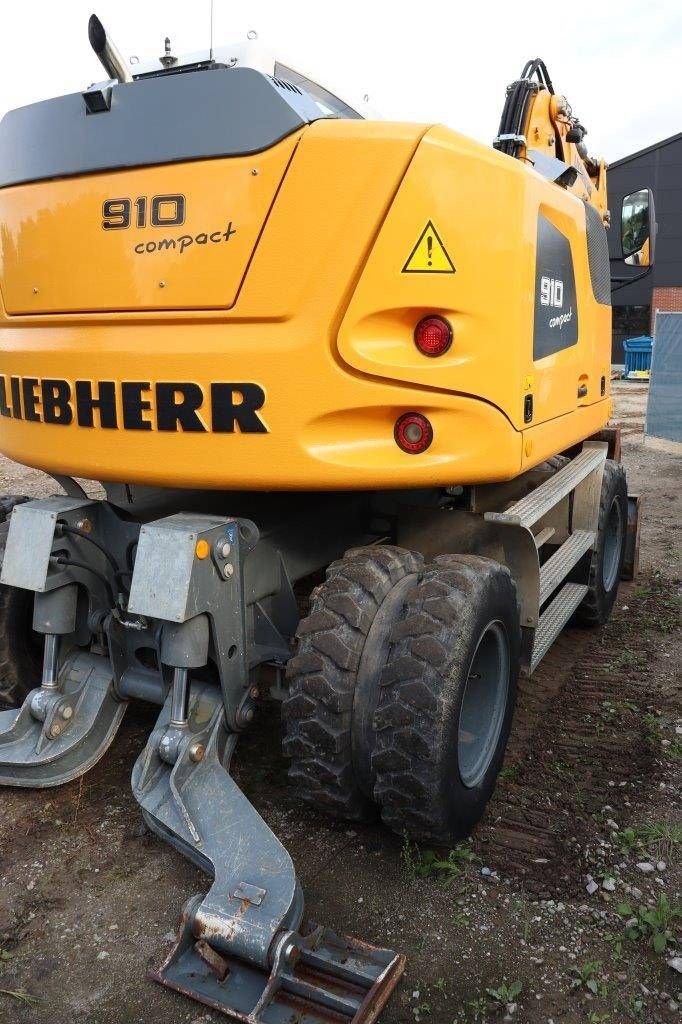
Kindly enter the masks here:
M 434 858 L 301 808 L 274 709 L 238 751 L 238 781 L 291 851 L 310 918 L 407 954 L 384 1024 L 680 1020 L 682 459 L 643 443 L 646 387 L 614 391 L 630 489 L 645 498 L 640 577 L 604 629 L 567 631 L 522 684 L 470 844 Z M 0 462 L 0 492 L 52 489 Z M 130 709 L 80 781 L 2 793 L 3 1024 L 223 1019 L 145 978 L 182 903 L 208 888 L 130 793 L 154 718 Z

